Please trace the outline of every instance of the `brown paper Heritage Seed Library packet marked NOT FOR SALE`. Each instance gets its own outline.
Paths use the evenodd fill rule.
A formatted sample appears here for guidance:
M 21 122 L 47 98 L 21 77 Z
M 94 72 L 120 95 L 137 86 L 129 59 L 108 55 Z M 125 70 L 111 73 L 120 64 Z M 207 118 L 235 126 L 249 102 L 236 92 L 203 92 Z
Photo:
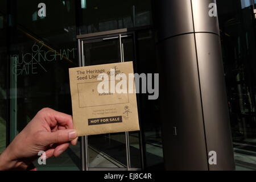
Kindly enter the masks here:
M 114 69 L 114 72 L 110 72 L 110 69 Z M 127 93 L 110 92 L 110 81 L 97 80 L 100 73 L 108 75 L 114 88 L 121 82 L 115 80 L 113 75 L 123 73 Z M 79 136 L 139 130 L 134 78 L 129 79 L 129 73 L 134 73 L 132 61 L 69 68 L 73 127 Z M 108 85 L 109 92 L 98 92 L 98 84 L 102 81 Z M 129 92 L 129 85 L 133 85 L 132 92 Z

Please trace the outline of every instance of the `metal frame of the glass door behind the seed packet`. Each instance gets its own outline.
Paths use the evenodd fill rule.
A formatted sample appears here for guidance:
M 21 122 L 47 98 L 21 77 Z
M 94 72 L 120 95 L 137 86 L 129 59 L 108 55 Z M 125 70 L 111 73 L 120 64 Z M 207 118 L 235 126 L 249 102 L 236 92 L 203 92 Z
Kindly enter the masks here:
M 90 42 L 92 40 L 96 39 L 108 39 L 108 38 L 114 38 L 115 36 L 119 36 L 120 39 L 120 46 L 121 46 L 121 36 L 125 35 L 132 35 L 133 36 L 133 44 L 134 44 L 134 67 L 135 72 L 137 69 L 136 61 L 137 61 L 137 49 L 136 49 L 136 37 L 135 37 L 135 30 L 127 30 L 127 28 L 122 28 L 118 30 L 111 30 L 111 31 L 104 31 L 104 32 L 95 32 L 91 34 L 83 34 L 83 35 L 77 35 L 77 42 L 78 42 L 78 54 L 79 54 L 79 67 L 84 67 L 84 42 Z M 121 62 L 123 62 L 123 52 L 122 47 L 121 49 Z M 139 110 L 139 99 L 137 96 L 137 102 L 138 102 L 138 110 Z M 139 117 L 140 118 L 140 117 Z M 139 125 L 141 128 L 141 119 L 139 119 Z M 142 131 L 139 131 L 139 147 L 140 147 L 140 153 L 141 153 L 141 168 L 131 168 L 130 167 L 130 143 L 129 143 L 129 132 L 125 132 L 125 138 L 126 138 L 126 160 L 127 160 L 127 167 L 121 167 L 121 168 L 89 168 L 89 161 L 88 161 L 88 137 L 84 136 L 81 137 L 81 164 L 82 164 L 82 171 L 139 171 L 144 169 L 144 146 L 142 144 L 143 138 L 142 138 Z

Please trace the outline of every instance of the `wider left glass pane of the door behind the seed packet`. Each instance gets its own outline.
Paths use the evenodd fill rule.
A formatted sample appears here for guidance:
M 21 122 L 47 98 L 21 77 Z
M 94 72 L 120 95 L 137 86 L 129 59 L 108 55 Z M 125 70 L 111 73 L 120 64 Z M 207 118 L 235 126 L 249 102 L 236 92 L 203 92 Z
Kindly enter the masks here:
M 93 40 L 84 44 L 85 65 L 116 63 L 121 60 L 119 38 Z M 125 167 L 125 134 L 88 136 L 89 167 Z

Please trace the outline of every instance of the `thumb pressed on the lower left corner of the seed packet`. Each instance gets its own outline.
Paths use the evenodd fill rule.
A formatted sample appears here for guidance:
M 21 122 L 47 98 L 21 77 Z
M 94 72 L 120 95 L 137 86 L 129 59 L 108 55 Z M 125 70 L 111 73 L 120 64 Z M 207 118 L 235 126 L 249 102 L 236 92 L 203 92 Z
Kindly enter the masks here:
M 77 131 L 72 129 L 57 130 L 55 132 L 45 132 L 42 136 L 47 144 L 65 143 L 77 137 Z

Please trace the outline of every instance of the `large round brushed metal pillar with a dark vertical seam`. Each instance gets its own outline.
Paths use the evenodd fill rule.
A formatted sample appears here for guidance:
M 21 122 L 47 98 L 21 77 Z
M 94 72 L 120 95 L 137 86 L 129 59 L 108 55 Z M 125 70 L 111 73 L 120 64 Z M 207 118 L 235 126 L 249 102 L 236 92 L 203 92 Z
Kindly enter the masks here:
M 215 0 L 158 0 L 158 58 L 167 170 L 234 169 Z M 216 151 L 217 164 L 209 164 Z

